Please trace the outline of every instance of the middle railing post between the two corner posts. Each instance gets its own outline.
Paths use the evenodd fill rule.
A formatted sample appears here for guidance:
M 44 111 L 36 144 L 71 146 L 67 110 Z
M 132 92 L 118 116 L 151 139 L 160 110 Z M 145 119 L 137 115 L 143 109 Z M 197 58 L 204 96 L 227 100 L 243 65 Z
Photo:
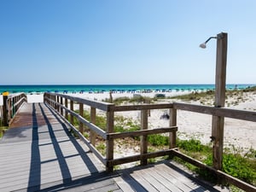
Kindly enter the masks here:
M 141 111 L 141 130 L 148 130 L 148 110 Z M 148 140 L 147 136 L 141 136 L 141 154 L 148 153 Z M 148 159 L 142 159 L 141 165 L 147 165 Z

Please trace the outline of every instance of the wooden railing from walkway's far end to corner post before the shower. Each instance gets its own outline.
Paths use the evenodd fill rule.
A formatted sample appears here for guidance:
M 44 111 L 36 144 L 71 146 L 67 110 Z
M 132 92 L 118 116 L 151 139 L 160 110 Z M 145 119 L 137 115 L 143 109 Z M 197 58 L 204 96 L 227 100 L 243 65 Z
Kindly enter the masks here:
M 65 103 L 63 102 L 65 99 Z M 52 108 L 60 113 L 65 119 L 67 119 L 67 113 L 70 114 L 70 124 L 73 125 L 73 117 L 79 120 L 79 131 L 73 129 L 79 134 L 79 137 L 84 140 L 84 143 L 88 145 L 90 150 L 96 154 L 99 160 L 106 166 L 108 172 L 113 171 L 113 166 L 129 163 L 140 160 L 142 165 L 147 164 L 149 158 L 163 156 L 171 154 L 172 148 L 176 148 L 176 132 L 177 126 L 172 125 L 174 121 L 170 120 L 170 126 L 165 128 L 155 128 L 148 130 L 148 110 L 157 108 L 169 108 L 172 111 L 172 104 L 152 104 L 152 105 L 133 105 L 133 106 L 114 106 L 112 103 L 107 102 L 96 102 L 79 97 L 45 93 L 44 102 L 47 102 Z M 69 108 L 68 108 L 69 103 Z M 75 113 L 73 110 L 74 103 L 79 104 L 79 113 Z M 90 121 L 84 119 L 84 105 L 90 107 Z M 96 123 L 96 109 L 100 109 L 106 113 L 107 125 L 106 131 L 95 125 Z M 140 131 L 129 131 L 129 132 L 114 132 L 114 112 L 120 111 L 141 111 L 141 130 Z M 65 111 L 65 113 L 63 112 Z M 172 118 L 171 118 L 172 119 Z M 90 129 L 90 141 L 83 136 L 83 125 Z M 150 134 L 169 133 L 170 135 L 170 146 L 169 149 L 160 150 L 154 153 L 148 153 L 148 141 L 147 136 Z M 106 157 L 96 150 L 96 135 L 102 137 L 106 141 Z M 132 155 L 129 157 L 113 159 L 113 141 L 118 138 L 125 137 L 141 137 L 141 153 Z

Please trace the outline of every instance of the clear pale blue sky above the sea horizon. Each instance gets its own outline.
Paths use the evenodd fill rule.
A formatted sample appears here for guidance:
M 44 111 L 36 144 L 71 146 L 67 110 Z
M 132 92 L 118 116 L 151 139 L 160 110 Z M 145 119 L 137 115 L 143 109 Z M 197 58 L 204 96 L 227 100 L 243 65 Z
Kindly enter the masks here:
M 1 0 L 0 84 L 256 83 L 256 1 Z

